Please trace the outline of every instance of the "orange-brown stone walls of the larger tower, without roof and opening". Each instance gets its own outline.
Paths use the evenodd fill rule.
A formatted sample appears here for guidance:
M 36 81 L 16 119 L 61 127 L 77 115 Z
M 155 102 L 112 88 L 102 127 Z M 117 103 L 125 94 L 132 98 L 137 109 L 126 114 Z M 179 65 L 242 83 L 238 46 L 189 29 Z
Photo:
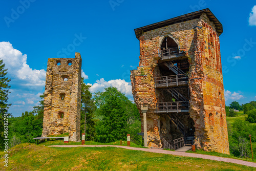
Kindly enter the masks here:
M 189 62 L 189 114 L 179 115 L 184 123 L 193 119 L 196 147 L 229 154 L 219 35 L 205 13 L 200 18 L 147 31 L 140 36 L 139 67 L 131 71 L 131 82 L 138 109 L 145 100 L 148 102 L 148 146 L 162 147 L 163 138 L 175 139 L 168 117 L 154 113 L 155 104 L 159 102 L 154 77 L 161 76 L 158 52 L 165 36 L 177 42 Z M 143 124 L 143 114 L 140 116 Z

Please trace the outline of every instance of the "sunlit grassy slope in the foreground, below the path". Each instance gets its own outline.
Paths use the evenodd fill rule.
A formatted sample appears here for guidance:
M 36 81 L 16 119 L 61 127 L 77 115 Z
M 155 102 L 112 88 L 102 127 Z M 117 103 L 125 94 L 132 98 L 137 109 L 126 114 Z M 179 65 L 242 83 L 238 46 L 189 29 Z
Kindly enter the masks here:
M 3 153 L 0 154 L 3 156 Z M 133 151 L 115 147 L 48 147 L 20 144 L 10 149 L 2 170 L 255 170 L 243 165 Z

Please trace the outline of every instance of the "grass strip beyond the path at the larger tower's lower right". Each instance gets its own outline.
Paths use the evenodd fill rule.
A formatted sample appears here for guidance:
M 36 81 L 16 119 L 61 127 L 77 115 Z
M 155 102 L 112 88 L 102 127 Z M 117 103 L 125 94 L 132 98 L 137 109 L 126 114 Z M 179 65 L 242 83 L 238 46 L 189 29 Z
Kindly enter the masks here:
M 217 152 L 206 152 L 206 151 L 203 151 L 202 149 L 196 149 L 196 152 L 187 151 L 186 153 L 196 153 L 196 154 L 202 154 L 202 155 L 218 156 L 218 157 L 238 159 L 238 160 L 244 160 L 244 161 L 256 163 L 256 160 L 252 160 L 250 158 L 238 158 L 238 157 L 234 157 L 233 155 L 227 155 L 227 154 L 222 154 L 222 153 L 217 153 Z

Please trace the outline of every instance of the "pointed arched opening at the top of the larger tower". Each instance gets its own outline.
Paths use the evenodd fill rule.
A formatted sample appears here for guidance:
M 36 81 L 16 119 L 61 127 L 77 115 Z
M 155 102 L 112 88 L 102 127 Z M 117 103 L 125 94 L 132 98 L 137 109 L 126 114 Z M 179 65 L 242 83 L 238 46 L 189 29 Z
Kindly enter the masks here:
M 170 54 L 175 54 L 179 52 L 179 48 L 174 39 L 169 36 L 164 37 L 162 45 L 161 45 L 161 55 L 168 56 Z

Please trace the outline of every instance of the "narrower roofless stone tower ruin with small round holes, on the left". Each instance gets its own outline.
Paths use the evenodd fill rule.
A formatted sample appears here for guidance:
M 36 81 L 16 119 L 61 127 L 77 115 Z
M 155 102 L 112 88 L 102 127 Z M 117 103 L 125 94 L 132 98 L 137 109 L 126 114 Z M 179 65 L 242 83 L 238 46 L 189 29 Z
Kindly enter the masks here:
M 42 137 L 69 133 L 80 141 L 81 63 L 80 53 L 48 59 Z

